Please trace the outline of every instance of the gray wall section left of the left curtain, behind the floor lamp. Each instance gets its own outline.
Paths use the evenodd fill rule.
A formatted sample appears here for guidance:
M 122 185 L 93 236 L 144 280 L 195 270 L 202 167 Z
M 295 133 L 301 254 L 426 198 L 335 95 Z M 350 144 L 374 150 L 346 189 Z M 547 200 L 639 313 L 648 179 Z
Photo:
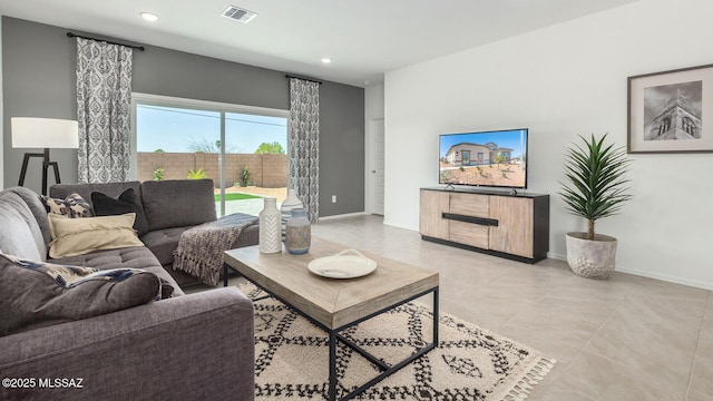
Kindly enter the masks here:
M 77 118 L 76 46 L 65 33 L 60 28 L 2 18 L 4 187 L 18 184 L 26 151 L 41 151 L 12 148 L 11 117 Z M 77 150 L 50 149 L 50 158 L 59 164 L 64 183 L 77 182 Z M 53 183 L 51 170 L 49 176 Z M 40 177 L 41 159 L 33 157 L 25 186 L 39 193 Z

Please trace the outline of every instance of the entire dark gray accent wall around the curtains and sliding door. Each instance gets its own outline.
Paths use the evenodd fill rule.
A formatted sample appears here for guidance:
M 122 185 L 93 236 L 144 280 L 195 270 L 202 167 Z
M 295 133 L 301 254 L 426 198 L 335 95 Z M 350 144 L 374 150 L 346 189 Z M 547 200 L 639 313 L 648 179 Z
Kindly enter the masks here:
M 25 153 L 35 151 L 12 148 L 10 117 L 77 118 L 77 47 L 66 35 L 69 30 L 2 17 L 4 187 L 17 184 Z M 146 51 L 134 52 L 136 92 L 290 107 L 285 71 L 145 47 Z M 50 155 L 59 164 L 62 183 L 76 183 L 77 151 L 51 149 Z M 40 159 L 32 159 L 26 186 L 39 192 L 40 176 Z M 50 185 L 51 177 L 50 172 Z M 332 195 L 338 196 L 336 204 L 331 203 Z M 330 81 L 320 87 L 320 206 L 323 217 L 364 211 L 363 88 Z

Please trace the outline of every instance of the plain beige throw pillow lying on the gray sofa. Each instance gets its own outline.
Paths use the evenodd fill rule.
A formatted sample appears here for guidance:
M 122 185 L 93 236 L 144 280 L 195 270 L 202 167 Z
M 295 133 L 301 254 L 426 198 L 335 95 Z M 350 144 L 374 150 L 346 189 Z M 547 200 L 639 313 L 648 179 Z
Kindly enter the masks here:
M 99 250 L 144 246 L 134 231 L 136 213 L 117 216 L 67 218 L 49 214 L 52 258 L 84 255 Z

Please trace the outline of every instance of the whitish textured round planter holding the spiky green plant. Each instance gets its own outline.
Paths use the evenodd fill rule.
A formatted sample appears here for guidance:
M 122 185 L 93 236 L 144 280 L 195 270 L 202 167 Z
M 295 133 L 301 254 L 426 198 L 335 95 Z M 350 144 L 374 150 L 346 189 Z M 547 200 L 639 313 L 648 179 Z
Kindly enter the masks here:
M 567 233 L 566 238 L 567 263 L 575 274 L 603 280 L 614 272 L 616 238 L 596 234 L 587 239 L 587 233 Z

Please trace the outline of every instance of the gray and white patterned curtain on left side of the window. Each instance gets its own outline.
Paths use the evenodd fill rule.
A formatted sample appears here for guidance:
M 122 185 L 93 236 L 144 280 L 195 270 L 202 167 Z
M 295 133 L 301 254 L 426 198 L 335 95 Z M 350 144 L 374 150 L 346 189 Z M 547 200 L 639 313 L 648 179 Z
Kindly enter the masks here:
M 79 182 L 129 179 L 130 48 L 77 38 Z

